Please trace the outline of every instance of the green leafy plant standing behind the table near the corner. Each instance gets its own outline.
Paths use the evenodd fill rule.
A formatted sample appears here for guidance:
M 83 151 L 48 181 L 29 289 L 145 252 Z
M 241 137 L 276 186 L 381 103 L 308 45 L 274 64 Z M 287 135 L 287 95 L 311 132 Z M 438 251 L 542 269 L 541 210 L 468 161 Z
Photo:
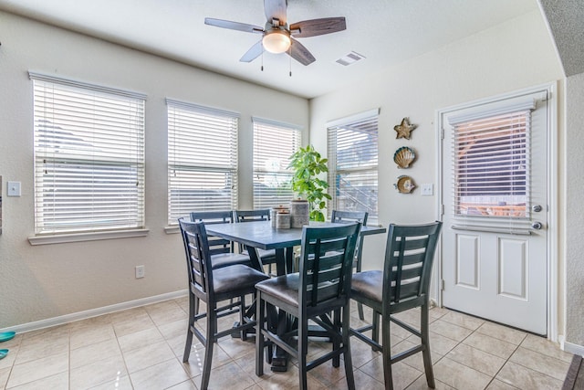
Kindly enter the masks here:
M 298 196 L 308 200 L 311 221 L 324 222 L 322 210 L 327 206 L 325 199 L 332 199 L 327 193 L 327 181 L 318 177 L 328 172 L 327 162 L 328 159 L 322 158 L 312 145 L 300 148 L 290 156 L 288 168 L 294 170 L 292 189 Z

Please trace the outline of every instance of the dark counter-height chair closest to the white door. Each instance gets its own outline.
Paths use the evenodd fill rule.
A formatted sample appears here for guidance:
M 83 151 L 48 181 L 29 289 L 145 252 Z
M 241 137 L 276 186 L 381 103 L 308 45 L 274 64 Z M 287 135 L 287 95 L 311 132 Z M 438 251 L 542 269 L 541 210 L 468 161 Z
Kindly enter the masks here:
M 418 226 L 391 224 L 385 248 L 383 270 L 367 270 L 353 275 L 351 299 L 373 309 L 373 323 L 360 329 L 351 329 L 351 335 L 369 343 L 383 354 L 385 388 L 393 389 L 391 364 L 414 353 L 422 352 L 428 387 L 434 388 L 432 359 L 429 343 L 430 275 L 434 251 L 440 236 L 442 222 Z M 420 308 L 420 330 L 393 317 L 393 314 Z M 381 314 L 382 346 L 379 343 L 379 315 Z M 420 338 L 420 344 L 391 356 L 391 322 Z M 371 338 L 364 332 L 372 330 Z

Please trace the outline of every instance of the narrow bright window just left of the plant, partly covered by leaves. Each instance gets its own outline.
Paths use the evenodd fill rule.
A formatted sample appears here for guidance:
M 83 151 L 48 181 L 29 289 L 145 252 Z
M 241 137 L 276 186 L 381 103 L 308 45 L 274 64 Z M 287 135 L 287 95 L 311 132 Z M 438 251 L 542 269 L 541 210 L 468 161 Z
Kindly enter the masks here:
M 253 118 L 254 208 L 285 205 L 294 198 L 290 155 L 300 147 L 296 126 Z

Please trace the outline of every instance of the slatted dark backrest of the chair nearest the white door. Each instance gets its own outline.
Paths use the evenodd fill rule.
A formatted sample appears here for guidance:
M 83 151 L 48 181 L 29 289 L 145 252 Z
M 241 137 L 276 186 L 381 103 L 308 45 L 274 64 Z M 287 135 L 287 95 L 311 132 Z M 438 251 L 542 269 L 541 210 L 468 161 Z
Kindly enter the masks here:
M 441 228 L 438 221 L 418 226 L 390 225 L 383 272 L 383 294 L 390 297 L 390 305 L 427 294 Z

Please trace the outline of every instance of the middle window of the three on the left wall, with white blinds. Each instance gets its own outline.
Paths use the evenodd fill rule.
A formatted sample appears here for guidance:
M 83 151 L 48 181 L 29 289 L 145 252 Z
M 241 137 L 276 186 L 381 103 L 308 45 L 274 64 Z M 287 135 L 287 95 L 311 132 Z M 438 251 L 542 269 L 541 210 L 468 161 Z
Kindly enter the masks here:
M 168 106 L 168 224 L 237 206 L 238 114 L 175 100 Z

